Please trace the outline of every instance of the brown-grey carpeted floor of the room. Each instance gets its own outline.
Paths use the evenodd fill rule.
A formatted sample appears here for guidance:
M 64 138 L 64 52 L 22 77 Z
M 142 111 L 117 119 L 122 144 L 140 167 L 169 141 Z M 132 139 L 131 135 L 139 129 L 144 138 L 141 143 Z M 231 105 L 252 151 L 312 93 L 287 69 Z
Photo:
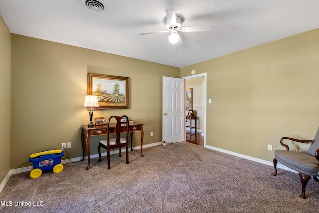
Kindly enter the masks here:
M 188 142 L 145 148 L 143 154 L 130 151 L 128 165 L 125 155 L 112 155 L 110 170 L 104 157 L 100 163 L 91 159 L 90 170 L 81 161 L 37 179 L 28 172 L 12 175 L 0 193 L 0 212 L 318 212 L 319 183 L 309 181 L 307 199 L 301 199 L 297 173 L 278 169 L 274 177 L 271 166 Z

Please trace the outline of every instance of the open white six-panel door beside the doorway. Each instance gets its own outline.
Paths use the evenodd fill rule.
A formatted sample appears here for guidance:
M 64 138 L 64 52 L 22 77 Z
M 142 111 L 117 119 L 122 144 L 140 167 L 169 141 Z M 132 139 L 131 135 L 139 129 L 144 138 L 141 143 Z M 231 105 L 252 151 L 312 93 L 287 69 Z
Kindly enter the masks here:
M 163 141 L 184 141 L 185 80 L 163 77 Z

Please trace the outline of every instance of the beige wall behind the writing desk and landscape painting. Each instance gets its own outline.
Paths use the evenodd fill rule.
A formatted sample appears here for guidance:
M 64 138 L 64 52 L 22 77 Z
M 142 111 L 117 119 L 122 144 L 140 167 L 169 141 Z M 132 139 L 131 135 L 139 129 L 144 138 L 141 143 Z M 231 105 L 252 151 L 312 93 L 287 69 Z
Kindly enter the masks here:
M 95 110 L 93 117 L 126 114 L 145 124 L 143 144 L 161 141 L 162 76 L 180 77 L 179 68 L 15 34 L 11 51 L 12 169 L 30 166 L 30 154 L 60 149 L 63 142 L 72 142 L 70 158 L 81 156 L 80 126 L 89 123 L 83 107 L 88 72 L 130 78 L 130 109 Z M 138 146 L 140 133 L 134 135 Z M 99 137 L 91 138 L 91 154 Z

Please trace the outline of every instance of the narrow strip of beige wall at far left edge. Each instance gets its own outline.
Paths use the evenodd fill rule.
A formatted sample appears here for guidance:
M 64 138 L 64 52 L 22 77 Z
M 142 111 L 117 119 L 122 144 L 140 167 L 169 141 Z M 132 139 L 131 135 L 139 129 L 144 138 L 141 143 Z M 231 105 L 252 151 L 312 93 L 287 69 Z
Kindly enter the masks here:
M 11 169 L 10 165 L 10 61 L 11 33 L 0 16 L 0 183 Z

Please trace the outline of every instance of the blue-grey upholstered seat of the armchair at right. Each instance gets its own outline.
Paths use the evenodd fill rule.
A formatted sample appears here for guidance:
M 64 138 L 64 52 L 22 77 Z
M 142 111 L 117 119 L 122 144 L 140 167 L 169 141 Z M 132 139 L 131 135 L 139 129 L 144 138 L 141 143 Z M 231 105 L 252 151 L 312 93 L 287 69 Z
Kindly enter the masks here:
M 318 160 L 307 153 L 275 150 L 275 158 L 285 166 L 309 176 L 318 176 Z

